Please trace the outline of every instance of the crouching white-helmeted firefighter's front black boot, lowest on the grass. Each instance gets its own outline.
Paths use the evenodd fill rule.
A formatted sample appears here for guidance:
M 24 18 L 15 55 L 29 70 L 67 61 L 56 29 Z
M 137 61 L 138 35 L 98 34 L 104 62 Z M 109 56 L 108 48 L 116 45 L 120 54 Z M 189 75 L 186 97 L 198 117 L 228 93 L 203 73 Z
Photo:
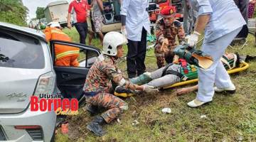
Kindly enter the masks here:
M 106 121 L 102 116 L 95 116 L 95 118 L 86 126 L 86 128 L 92 131 L 96 136 L 104 136 L 106 131 L 102 129 L 102 125 L 106 124 Z

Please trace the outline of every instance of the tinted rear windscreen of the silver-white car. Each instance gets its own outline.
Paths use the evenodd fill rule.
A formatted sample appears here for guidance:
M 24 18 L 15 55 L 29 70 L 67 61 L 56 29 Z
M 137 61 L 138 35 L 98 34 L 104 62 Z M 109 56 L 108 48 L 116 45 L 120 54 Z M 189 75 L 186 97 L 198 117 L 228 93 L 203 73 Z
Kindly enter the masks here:
M 0 31 L 0 67 L 42 69 L 45 65 L 43 48 L 38 39 Z

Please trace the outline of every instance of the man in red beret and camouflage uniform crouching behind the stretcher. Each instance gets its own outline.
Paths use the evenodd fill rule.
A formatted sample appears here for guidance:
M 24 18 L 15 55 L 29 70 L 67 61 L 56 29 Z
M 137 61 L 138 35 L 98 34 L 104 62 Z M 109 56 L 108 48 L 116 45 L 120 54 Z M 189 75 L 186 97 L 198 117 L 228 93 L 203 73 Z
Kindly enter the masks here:
M 179 21 L 175 19 L 176 9 L 174 6 L 166 6 L 161 9 L 163 18 L 156 21 L 156 45 L 154 53 L 156 64 L 159 68 L 164 67 L 164 60 L 167 63 L 173 62 L 174 48 L 176 48 L 176 35 L 181 44 L 185 41 L 185 32 Z

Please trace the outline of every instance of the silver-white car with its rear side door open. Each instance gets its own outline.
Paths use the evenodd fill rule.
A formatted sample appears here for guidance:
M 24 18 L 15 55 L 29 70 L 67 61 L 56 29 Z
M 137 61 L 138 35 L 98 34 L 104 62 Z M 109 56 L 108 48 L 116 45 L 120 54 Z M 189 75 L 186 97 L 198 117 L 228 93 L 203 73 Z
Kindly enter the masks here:
M 41 31 L 0 22 L 0 141 L 54 141 L 55 112 L 31 111 L 31 96 L 60 93 L 82 100 L 91 64 L 55 66 L 55 44 L 80 48 L 85 62 L 100 55 L 78 43 L 55 40 L 49 47 Z

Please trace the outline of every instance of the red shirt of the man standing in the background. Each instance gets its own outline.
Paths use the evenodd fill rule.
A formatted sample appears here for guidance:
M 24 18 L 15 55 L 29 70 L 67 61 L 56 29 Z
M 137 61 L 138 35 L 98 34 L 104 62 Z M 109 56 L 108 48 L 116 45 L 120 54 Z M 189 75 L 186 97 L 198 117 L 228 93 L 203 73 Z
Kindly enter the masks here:
M 84 23 L 86 22 L 87 10 L 90 10 L 90 6 L 87 4 L 86 0 L 74 0 L 70 3 L 68 8 L 68 13 L 75 11 L 74 20 L 75 23 Z

